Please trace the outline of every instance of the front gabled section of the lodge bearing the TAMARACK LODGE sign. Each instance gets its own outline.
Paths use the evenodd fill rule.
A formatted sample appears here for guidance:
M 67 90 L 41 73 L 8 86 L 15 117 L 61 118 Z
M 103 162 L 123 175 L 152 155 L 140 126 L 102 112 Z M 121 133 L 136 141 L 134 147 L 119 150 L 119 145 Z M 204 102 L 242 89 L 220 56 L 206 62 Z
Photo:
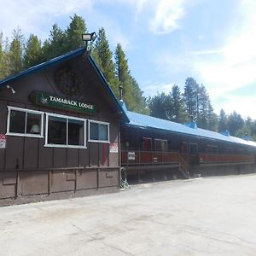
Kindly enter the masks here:
M 125 112 L 85 49 L 0 82 L 0 199 L 119 187 Z

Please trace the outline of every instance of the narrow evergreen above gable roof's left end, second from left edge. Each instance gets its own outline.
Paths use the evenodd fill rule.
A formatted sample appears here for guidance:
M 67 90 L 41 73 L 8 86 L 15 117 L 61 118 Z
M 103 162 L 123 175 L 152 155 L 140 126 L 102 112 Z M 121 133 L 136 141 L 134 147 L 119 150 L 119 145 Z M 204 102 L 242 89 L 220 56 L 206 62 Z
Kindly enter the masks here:
M 23 68 L 24 37 L 20 28 L 14 30 L 13 40 L 9 48 L 9 74 L 19 73 Z

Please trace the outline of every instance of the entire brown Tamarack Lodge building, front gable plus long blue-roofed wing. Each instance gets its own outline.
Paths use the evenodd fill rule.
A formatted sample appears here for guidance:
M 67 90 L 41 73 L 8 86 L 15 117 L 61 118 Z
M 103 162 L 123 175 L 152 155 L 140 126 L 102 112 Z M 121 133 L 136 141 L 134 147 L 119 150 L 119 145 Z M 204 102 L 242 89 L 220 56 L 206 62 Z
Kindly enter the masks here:
M 256 143 L 128 111 L 84 48 L 0 81 L 0 115 L 0 205 L 255 172 Z

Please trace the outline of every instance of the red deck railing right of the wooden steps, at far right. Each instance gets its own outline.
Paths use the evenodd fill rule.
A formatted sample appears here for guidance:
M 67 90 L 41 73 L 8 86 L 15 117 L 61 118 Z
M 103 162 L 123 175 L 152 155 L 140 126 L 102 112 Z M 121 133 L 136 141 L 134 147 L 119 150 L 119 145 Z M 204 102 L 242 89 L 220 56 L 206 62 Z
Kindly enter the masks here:
M 199 154 L 201 164 L 211 163 L 253 163 L 253 154 Z

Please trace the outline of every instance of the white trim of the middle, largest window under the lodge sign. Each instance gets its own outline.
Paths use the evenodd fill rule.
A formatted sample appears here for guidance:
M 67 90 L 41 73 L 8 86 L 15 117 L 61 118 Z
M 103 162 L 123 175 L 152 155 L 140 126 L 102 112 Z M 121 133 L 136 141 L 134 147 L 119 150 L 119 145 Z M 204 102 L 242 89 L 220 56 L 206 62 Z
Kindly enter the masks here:
M 81 119 L 81 118 L 77 118 L 77 117 L 73 117 L 73 116 L 68 116 L 68 115 L 63 115 L 63 114 L 58 114 L 58 113 L 45 113 L 46 115 L 46 121 L 45 121 L 45 143 L 44 143 L 44 147 L 49 147 L 49 148 L 87 148 L 86 146 L 86 120 L 87 119 Z M 59 117 L 62 119 L 67 119 L 66 121 L 66 125 L 68 125 L 68 119 L 73 119 L 73 120 L 79 120 L 79 121 L 83 121 L 84 122 L 84 146 L 81 145 L 61 145 L 61 144 L 49 144 L 48 143 L 48 120 L 49 120 L 49 116 L 52 117 Z M 66 135 L 66 139 L 68 137 L 68 129 L 67 129 L 67 135 Z

